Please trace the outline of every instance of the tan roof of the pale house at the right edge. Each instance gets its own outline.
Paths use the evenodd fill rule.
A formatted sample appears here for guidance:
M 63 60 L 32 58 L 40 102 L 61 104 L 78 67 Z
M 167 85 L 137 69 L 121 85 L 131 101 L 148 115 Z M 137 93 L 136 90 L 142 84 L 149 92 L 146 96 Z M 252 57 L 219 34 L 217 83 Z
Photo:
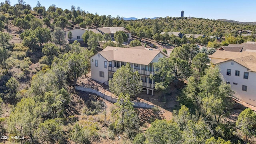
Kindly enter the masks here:
M 234 60 L 238 64 L 248 68 L 248 70 L 256 72 L 256 52 L 229 52 L 217 50 L 210 58 L 219 59 L 214 64 Z

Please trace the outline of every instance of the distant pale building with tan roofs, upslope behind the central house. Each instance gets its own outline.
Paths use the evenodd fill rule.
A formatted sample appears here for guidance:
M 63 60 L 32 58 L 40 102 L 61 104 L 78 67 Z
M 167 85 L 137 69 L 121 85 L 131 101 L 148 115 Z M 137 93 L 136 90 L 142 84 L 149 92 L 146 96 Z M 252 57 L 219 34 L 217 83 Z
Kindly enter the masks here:
M 92 31 L 96 34 L 97 33 L 109 34 L 112 39 L 114 39 L 114 33 L 118 31 L 123 31 L 128 36 L 128 39 L 129 40 L 131 39 L 131 32 L 124 27 L 103 27 L 103 28 L 94 28 L 94 29 L 76 28 L 76 29 L 65 31 L 66 39 L 70 40 L 68 38 L 68 32 L 72 32 L 73 38 L 71 40 L 83 41 L 82 35 L 86 30 Z

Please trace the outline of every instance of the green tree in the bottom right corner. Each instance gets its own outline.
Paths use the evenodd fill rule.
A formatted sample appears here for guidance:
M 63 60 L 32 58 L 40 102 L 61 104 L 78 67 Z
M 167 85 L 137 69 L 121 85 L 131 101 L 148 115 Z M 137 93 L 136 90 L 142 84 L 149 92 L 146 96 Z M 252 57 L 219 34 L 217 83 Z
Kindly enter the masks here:
M 256 124 L 256 114 L 250 109 L 246 108 L 242 111 L 238 120 L 236 121 L 236 127 L 246 136 L 245 142 L 248 143 L 248 139 L 254 134 L 254 126 Z

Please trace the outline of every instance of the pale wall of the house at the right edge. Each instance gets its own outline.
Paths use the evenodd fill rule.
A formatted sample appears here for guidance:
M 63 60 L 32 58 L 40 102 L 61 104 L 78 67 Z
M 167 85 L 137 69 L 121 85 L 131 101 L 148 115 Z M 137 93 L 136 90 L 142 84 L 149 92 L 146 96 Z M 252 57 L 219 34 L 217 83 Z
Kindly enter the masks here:
M 231 62 L 234 65 L 231 65 Z M 219 64 L 220 72 L 224 79 L 230 82 L 232 90 L 235 91 L 234 96 L 243 102 L 256 106 L 256 72 L 250 72 L 244 66 L 234 62 L 233 60 L 222 62 Z M 227 75 L 227 69 L 231 69 L 231 75 Z M 240 71 L 240 76 L 235 76 L 235 71 Z M 244 79 L 244 72 L 249 72 L 248 79 Z M 237 85 L 233 84 L 237 83 Z M 247 86 L 247 91 L 242 90 L 242 85 Z

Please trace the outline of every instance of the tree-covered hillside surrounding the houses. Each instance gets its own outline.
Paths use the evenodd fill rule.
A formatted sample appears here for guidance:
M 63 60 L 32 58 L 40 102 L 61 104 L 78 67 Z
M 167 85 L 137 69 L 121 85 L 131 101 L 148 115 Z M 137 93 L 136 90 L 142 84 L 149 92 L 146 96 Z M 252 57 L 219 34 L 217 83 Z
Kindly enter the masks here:
M 76 40 L 66 40 L 65 31 L 103 26 L 130 30 L 136 39 L 130 46 L 146 47 L 142 39 L 150 39 L 175 47 L 170 57 L 154 63 L 156 75 L 150 76 L 163 96 L 171 95 L 170 85 L 179 92 L 175 98 L 180 105 L 170 110 L 172 119 L 160 118 L 158 107 L 146 109 L 150 116 L 133 107 L 142 86 L 130 64 L 110 80 L 110 90 L 118 97 L 115 104 L 75 90 L 81 79 L 88 78 L 92 55 L 107 46 L 129 45 L 124 46 L 127 36 L 121 31 L 116 32 L 115 42 L 108 34 L 86 31 L 82 47 Z M 251 30 L 252 36 L 238 36 L 238 30 Z M 0 143 L 255 143 L 255 112 L 232 101 L 230 85 L 222 82 L 218 66 L 211 66 L 208 58 L 220 46 L 255 41 L 255 31 L 255 25 L 203 18 L 125 21 L 75 6 L 63 10 L 38 1 L 32 8 L 23 0 L 14 6 L 5 0 L 0 3 Z M 178 38 L 161 32 L 214 37 Z M 225 40 L 220 43 L 215 37 Z M 88 79 L 89 86 L 96 83 Z M 186 82 L 183 89 L 178 89 L 177 81 Z M 237 107 L 241 111 L 235 115 Z

